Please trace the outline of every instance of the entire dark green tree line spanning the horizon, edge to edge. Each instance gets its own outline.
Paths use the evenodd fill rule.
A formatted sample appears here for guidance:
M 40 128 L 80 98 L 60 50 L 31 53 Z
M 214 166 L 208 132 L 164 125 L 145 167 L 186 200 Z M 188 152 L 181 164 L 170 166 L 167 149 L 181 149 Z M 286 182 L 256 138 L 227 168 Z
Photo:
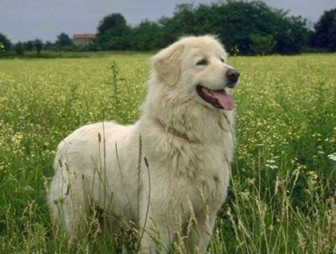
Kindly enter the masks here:
M 144 20 L 129 26 L 121 13 L 111 13 L 99 21 L 96 38 L 90 45 L 75 47 L 69 35 L 61 33 L 55 43 L 41 40 L 12 45 L 0 34 L 3 51 L 14 50 L 158 50 L 183 35 L 211 33 L 225 43 L 233 55 L 300 53 L 304 48 L 336 51 L 336 8 L 325 11 L 313 29 L 301 16 L 274 9 L 262 1 L 228 0 L 213 4 L 179 4 L 172 17 L 157 22 Z M 1 48 L 0 48 L 1 50 Z

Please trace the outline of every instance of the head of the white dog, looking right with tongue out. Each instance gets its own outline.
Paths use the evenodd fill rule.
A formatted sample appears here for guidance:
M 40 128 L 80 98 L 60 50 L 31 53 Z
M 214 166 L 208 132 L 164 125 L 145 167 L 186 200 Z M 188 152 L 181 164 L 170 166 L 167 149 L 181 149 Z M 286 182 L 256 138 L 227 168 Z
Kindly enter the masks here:
M 234 108 L 228 89 L 240 73 L 227 63 L 223 45 L 211 35 L 189 36 L 164 48 L 152 58 L 157 78 L 211 109 Z

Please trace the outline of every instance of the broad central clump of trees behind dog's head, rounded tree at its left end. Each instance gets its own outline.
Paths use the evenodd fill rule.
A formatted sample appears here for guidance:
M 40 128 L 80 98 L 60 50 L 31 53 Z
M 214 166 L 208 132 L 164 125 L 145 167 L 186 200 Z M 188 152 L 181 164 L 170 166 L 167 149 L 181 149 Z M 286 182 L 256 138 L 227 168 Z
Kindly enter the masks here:
M 216 34 L 233 54 L 298 53 L 306 45 L 306 20 L 289 17 L 260 1 L 179 4 L 171 18 L 142 21 L 130 28 L 113 13 L 99 23 L 96 44 L 103 50 L 157 50 L 182 35 Z M 259 44 L 260 43 L 260 44 Z

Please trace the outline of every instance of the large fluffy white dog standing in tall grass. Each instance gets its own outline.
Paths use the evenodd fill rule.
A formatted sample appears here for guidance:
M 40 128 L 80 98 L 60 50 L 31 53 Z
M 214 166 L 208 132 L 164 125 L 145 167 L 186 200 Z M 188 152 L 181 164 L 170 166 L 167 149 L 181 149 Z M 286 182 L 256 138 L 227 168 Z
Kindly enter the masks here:
M 206 253 L 228 191 L 228 88 L 238 77 L 211 35 L 182 38 L 157 53 L 135 124 L 83 126 L 58 145 L 48 194 L 53 219 L 72 235 L 99 204 L 138 224 L 141 253 L 167 253 L 172 243 Z

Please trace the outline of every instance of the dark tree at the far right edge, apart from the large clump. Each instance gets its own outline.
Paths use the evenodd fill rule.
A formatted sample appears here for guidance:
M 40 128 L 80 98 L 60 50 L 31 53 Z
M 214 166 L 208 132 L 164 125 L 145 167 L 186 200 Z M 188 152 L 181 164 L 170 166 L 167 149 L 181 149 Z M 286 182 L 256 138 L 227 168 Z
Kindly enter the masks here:
M 336 8 L 325 11 L 317 23 L 315 23 L 313 34 L 313 45 L 320 48 L 332 50 L 335 45 L 335 22 Z

